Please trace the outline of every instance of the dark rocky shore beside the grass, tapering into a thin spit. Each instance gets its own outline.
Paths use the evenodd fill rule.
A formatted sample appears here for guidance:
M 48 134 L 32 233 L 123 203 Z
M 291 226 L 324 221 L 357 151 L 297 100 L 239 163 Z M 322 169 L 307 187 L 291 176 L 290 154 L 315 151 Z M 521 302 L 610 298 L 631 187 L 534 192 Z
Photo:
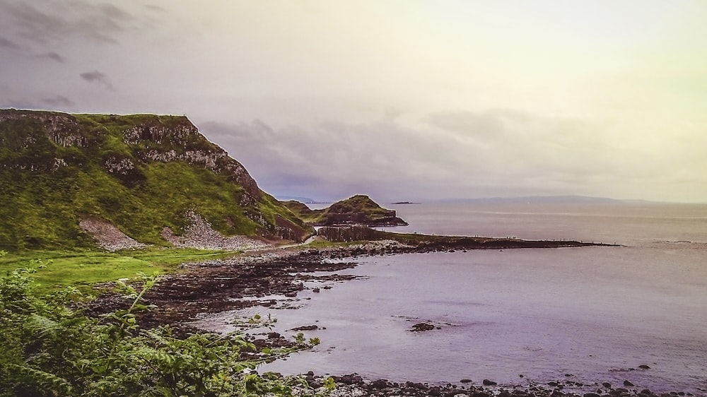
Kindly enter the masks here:
M 387 233 L 392 235 L 392 233 Z M 405 235 L 401 235 L 405 236 Z M 442 237 L 424 241 L 379 239 L 360 244 L 327 248 L 291 247 L 262 249 L 234 259 L 185 263 L 184 273 L 168 275 L 145 298 L 158 309 L 144 316 L 144 324 L 183 324 L 197 314 L 225 312 L 252 306 L 271 307 L 271 295 L 294 298 L 307 281 L 350 280 L 352 275 L 312 275 L 352 268 L 357 256 L 408 254 L 414 252 L 465 251 L 467 249 L 508 249 L 578 247 L 584 242 L 527 241 L 519 239 L 474 239 Z M 115 309 L 117 297 L 98 301 L 104 309 Z M 286 303 L 285 303 L 286 304 Z

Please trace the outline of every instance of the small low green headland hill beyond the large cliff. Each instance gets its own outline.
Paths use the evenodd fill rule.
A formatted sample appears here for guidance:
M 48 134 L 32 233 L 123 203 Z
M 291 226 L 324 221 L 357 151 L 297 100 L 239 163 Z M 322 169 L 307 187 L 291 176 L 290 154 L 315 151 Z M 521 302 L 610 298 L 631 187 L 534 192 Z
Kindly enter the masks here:
M 402 226 L 407 222 L 398 218 L 394 210 L 382 208 L 368 196 L 357 195 L 337 201 L 328 208 L 311 210 L 298 201 L 285 201 L 284 205 L 306 223 L 315 226 L 367 225 Z

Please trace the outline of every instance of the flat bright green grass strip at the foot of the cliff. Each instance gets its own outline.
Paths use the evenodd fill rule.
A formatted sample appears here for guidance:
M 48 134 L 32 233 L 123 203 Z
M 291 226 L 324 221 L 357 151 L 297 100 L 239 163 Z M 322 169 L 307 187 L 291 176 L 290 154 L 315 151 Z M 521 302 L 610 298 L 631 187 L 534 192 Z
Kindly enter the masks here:
M 166 274 L 180 271 L 180 263 L 224 259 L 238 252 L 198 249 L 141 249 L 134 251 L 33 250 L 0 256 L 0 274 L 16 268 L 41 267 L 34 275 L 40 292 L 77 287 L 95 293 L 93 285 L 134 278 L 137 273 Z

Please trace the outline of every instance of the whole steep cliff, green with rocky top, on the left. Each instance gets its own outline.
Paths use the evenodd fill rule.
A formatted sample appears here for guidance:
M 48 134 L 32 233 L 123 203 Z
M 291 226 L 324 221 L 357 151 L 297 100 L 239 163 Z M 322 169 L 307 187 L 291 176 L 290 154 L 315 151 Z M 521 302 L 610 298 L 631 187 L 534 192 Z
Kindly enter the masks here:
M 84 218 L 168 244 L 197 213 L 223 235 L 310 232 L 186 117 L 0 109 L 0 247 L 90 245 Z

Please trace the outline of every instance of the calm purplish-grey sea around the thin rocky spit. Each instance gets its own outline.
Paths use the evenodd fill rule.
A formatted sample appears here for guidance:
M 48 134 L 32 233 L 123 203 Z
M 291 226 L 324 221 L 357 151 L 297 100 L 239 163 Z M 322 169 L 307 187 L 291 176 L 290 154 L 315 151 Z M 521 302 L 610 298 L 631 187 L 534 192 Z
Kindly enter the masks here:
M 617 247 L 487 249 L 351 259 L 360 277 L 308 283 L 275 331 L 317 325 L 321 343 L 261 371 L 361 374 L 456 384 L 571 380 L 707 396 L 707 205 L 421 203 L 390 205 L 436 235 L 572 239 Z M 325 274 L 325 273 L 322 273 Z M 287 306 L 287 305 L 284 305 Z M 292 309 L 292 307 L 297 307 Z M 436 329 L 412 332 L 425 322 Z M 601 387 L 601 386 L 599 386 Z M 566 389 L 571 390 L 570 389 Z

